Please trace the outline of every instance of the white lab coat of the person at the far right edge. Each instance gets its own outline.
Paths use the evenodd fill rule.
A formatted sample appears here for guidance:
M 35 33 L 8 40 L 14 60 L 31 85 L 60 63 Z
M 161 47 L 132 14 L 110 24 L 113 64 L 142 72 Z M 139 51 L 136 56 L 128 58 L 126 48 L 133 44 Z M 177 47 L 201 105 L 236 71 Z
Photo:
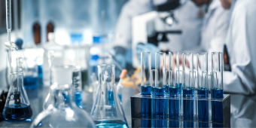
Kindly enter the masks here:
M 224 72 L 224 92 L 254 95 L 256 90 L 256 1 L 237 0 L 227 32 L 232 72 Z

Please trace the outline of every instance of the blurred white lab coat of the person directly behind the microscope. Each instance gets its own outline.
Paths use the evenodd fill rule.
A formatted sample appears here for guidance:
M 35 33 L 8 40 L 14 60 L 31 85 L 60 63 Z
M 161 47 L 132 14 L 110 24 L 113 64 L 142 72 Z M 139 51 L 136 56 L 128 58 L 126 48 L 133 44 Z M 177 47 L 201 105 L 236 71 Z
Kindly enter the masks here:
M 120 38 L 116 38 L 114 46 L 131 47 L 132 18 L 152 11 L 154 5 L 160 5 L 164 2 L 166 2 L 166 0 L 130 0 L 127 2 L 126 5 L 123 6 L 117 21 L 116 34 L 120 35 Z M 182 30 L 182 35 L 168 35 L 168 37 L 171 36 L 169 37 L 169 40 L 172 45 L 167 45 L 172 47 L 172 50 L 183 50 L 184 47 L 191 47 L 200 43 L 202 19 L 197 19 L 199 8 L 197 8 L 197 6 L 194 5 L 194 2 L 191 2 L 190 0 L 187 2 L 184 1 L 183 3 L 185 4 L 175 11 L 175 17 L 179 20 L 178 26 L 167 26 L 165 29 Z

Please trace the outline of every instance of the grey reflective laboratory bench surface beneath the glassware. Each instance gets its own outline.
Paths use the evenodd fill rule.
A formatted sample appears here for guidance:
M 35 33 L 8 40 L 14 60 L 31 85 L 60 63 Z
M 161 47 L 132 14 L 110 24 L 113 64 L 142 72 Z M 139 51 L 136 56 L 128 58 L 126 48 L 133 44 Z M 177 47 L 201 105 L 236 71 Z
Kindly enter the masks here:
M 131 108 L 130 108 L 130 96 L 139 93 L 138 90 L 125 88 L 123 91 L 123 111 L 126 116 L 129 127 L 131 124 Z M 49 93 L 49 87 L 38 90 L 26 90 L 29 97 L 29 102 L 33 111 L 32 120 L 43 111 L 44 99 Z M 88 114 L 93 107 L 93 93 L 83 91 L 83 103 L 82 107 Z M 256 96 L 242 96 L 231 94 L 231 127 L 256 127 Z M 11 122 L 2 120 L 0 121 L 0 127 L 29 127 L 32 121 L 18 121 Z

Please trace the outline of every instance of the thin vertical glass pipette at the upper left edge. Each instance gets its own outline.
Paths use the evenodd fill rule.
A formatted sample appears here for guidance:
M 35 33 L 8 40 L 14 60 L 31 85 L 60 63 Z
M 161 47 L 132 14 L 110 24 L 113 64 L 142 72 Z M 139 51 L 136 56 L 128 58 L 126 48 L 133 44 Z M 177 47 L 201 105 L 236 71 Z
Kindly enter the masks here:
M 6 0 L 6 29 L 8 34 L 8 41 L 5 42 L 5 46 L 8 47 L 8 60 L 11 68 L 11 50 L 17 50 L 17 45 L 11 42 L 11 0 Z

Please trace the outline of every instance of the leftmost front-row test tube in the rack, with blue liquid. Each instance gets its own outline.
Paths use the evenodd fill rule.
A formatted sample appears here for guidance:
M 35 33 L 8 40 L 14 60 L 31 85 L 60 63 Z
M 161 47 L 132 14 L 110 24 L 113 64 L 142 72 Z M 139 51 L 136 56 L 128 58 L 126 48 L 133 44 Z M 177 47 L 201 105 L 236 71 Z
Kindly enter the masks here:
M 141 53 L 141 87 L 142 96 L 151 97 L 150 86 L 151 75 L 151 52 Z M 142 99 L 142 117 L 148 118 L 151 116 L 151 99 Z M 150 127 L 151 120 L 142 120 L 142 127 Z

